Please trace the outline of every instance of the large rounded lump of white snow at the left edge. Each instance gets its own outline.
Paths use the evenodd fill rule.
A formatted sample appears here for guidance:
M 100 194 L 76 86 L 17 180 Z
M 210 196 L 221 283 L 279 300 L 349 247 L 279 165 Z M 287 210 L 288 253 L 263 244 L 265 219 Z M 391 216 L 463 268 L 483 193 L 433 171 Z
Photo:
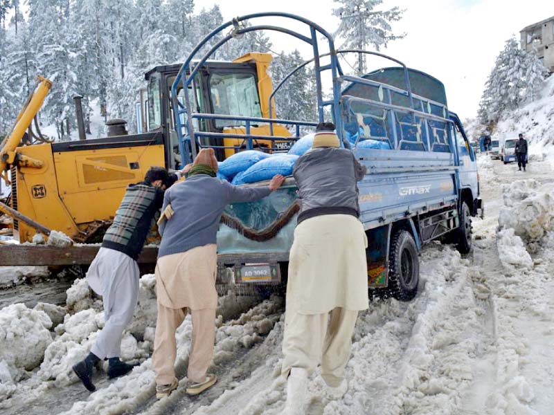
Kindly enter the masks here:
M 12 304 L 0 310 L 0 361 L 8 366 L 14 380 L 40 365 L 52 342 L 52 321 L 43 311 Z

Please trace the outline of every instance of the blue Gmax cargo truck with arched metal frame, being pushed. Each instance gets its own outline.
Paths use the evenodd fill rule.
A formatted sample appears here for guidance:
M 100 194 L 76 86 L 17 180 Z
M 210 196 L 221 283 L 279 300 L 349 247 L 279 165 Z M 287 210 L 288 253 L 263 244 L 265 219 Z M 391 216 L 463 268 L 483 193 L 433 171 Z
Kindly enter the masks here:
M 283 18 L 303 24 L 310 36 L 287 26 L 274 26 Z M 271 26 L 258 24 L 271 20 Z M 313 58 L 299 66 L 314 64 L 317 114 L 313 122 L 224 116 L 198 113 L 189 97 L 197 91 L 199 68 L 226 42 L 255 30 L 274 30 L 312 46 Z M 227 33 L 225 35 L 225 33 Z M 325 42 L 320 42 L 321 37 Z M 320 52 L 326 44 L 326 53 Z M 208 45 L 213 45 L 208 46 Z M 206 53 L 200 51 L 207 50 Z M 339 62 L 341 53 L 366 53 L 389 59 L 397 66 L 380 68 L 364 76 L 347 75 Z M 202 56 L 198 59 L 199 56 Z M 276 86 L 298 71 L 296 68 Z M 322 75 L 330 74 L 331 96 L 324 96 Z M 188 91 L 181 94 L 179 91 Z M 365 50 L 337 50 L 334 39 L 308 19 L 280 12 L 237 17 L 213 30 L 193 50 L 172 85 L 172 104 L 179 149 L 190 162 L 199 148 L 222 149 L 226 133 L 203 130 L 206 120 L 225 120 L 242 129 L 242 145 L 235 151 L 253 149 L 256 140 L 294 142 L 301 127 L 332 120 L 344 147 L 350 148 L 367 174 L 359 182 L 360 220 L 368 236 L 368 288 L 401 301 L 418 292 L 422 247 L 435 239 L 455 243 L 463 254 L 472 248 L 472 216 L 482 214 L 476 158 L 458 116 L 447 107 L 445 88 L 436 78 L 407 68 L 392 57 Z M 269 136 L 251 133 L 253 125 L 269 124 Z M 291 136 L 275 136 L 274 125 L 286 125 Z M 370 145 L 367 145 L 367 144 Z M 373 144 L 379 145 L 373 145 Z M 226 148 L 228 149 L 228 148 Z M 276 145 L 264 151 L 282 151 Z M 249 185 L 263 185 L 252 183 Z M 294 238 L 298 200 L 294 178 L 266 199 L 236 203 L 226 208 L 217 234 L 218 264 L 235 284 L 283 284 L 287 277 L 289 250 Z

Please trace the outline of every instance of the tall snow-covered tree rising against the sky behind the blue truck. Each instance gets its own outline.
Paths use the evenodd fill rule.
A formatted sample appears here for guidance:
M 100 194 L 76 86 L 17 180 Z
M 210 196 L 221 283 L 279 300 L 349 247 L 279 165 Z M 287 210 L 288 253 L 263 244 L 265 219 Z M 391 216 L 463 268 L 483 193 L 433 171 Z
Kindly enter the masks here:
M 339 7 L 333 9 L 333 15 L 341 19 L 335 32 L 344 39 L 341 48 L 365 50 L 373 46 L 379 50 L 386 48 L 389 41 L 402 39 L 405 34 L 395 35 L 391 22 L 402 19 L 404 10 L 393 7 L 388 10 L 375 10 L 383 0 L 334 0 Z M 358 55 L 358 73 L 366 73 L 366 55 Z

